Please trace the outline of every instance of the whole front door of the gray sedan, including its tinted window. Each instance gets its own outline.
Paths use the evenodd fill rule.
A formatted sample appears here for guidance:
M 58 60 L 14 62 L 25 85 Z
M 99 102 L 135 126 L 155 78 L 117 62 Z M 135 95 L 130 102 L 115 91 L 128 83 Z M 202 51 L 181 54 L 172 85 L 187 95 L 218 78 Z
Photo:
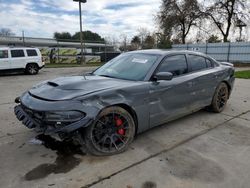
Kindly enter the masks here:
M 154 127 L 192 112 L 193 84 L 185 54 L 166 57 L 156 70 L 171 72 L 171 81 L 152 82 L 150 86 L 150 126 Z

